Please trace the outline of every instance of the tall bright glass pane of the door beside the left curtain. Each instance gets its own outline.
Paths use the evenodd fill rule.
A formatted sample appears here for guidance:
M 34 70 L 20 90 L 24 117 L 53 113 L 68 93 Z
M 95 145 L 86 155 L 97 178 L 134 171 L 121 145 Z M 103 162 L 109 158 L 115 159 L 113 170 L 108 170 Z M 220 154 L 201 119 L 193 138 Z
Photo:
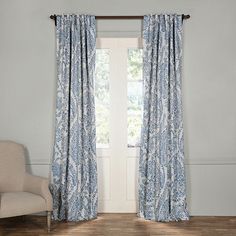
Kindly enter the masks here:
M 109 145 L 109 106 L 109 49 L 97 49 L 95 68 L 97 147 Z

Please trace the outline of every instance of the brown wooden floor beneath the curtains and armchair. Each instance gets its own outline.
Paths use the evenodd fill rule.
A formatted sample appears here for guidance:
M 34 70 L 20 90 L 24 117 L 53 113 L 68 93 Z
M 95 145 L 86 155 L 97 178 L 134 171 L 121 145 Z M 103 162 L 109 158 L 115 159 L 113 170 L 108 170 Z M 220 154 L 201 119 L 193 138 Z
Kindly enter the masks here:
M 151 236 L 151 235 L 236 235 L 236 217 L 191 217 L 190 221 L 158 223 L 135 214 L 99 214 L 89 222 L 52 222 L 47 233 L 46 217 L 24 216 L 0 219 L 0 235 L 78 235 L 78 236 Z

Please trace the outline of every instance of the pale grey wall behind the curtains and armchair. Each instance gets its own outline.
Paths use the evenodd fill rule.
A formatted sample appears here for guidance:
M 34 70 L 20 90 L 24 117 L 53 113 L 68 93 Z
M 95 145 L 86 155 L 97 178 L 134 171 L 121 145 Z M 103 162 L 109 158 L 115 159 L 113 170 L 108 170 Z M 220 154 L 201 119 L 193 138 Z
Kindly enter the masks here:
M 184 119 L 192 215 L 236 215 L 235 0 L 1 0 L 0 139 L 28 147 L 48 175 L 55 107 L 52 13 L 185 13 Z M 100 21 L 100 36 L 140 35 L 140 21 Z

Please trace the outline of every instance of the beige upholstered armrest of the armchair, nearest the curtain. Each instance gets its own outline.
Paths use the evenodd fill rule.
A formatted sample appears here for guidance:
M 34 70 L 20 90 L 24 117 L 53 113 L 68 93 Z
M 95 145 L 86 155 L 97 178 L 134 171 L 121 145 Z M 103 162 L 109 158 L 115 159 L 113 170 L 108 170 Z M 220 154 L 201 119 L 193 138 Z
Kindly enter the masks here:
M 47 211 L 52 211 L 52 195 L 48 188 L 48 179 L 26 173 L 24 191 L 43 197 L 46 201 Z

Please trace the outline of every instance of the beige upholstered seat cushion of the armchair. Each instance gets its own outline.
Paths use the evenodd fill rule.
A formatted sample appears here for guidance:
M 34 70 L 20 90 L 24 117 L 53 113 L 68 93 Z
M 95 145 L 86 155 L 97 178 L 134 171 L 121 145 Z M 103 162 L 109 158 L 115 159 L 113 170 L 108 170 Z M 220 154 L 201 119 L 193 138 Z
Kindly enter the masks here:
M 45 200 L 29 192 L 0 193 L 0 218 L 46 211 Z

